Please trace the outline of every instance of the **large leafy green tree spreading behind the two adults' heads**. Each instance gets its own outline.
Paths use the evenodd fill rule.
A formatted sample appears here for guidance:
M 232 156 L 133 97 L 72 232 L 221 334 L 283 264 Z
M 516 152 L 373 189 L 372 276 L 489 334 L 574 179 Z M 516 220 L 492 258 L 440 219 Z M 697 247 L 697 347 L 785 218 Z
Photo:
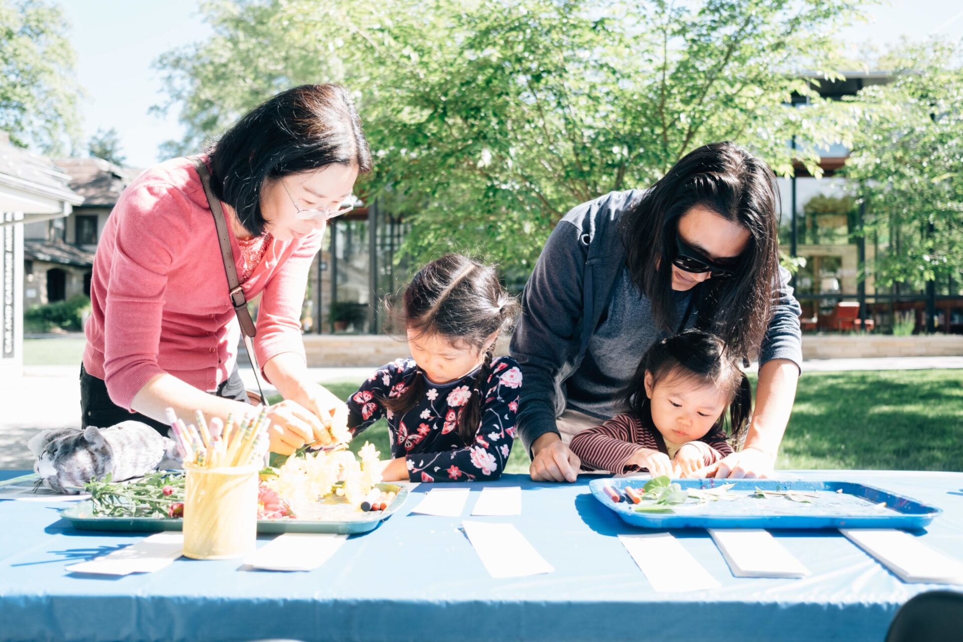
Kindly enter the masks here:
M 858 0 L 211 1 L 215 35 L 159 61 L 195 149 L 268 95 L 341 82 L 377 155 L 367 196 L 416 262 L 458 248 L 525 274 L 571 207 L 736 141 L 779 173 L 848 141 L 838 27 Z M 793 94 L 810 98 L 806 109 Z M 805 141 L 795 154 L 788 141 Z

